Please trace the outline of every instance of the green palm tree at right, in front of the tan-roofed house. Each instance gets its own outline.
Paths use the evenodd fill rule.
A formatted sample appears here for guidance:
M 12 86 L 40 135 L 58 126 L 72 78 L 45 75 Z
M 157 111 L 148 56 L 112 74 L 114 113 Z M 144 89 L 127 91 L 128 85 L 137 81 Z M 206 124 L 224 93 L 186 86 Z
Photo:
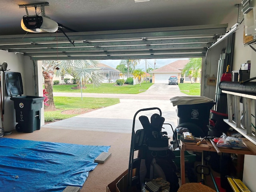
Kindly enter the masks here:
M 198 78 L 201 78 L 202 58 L 190 58 L 190 61 L 185 65 L 182 74 L 189 75 L 191 83 L 196 83 Z

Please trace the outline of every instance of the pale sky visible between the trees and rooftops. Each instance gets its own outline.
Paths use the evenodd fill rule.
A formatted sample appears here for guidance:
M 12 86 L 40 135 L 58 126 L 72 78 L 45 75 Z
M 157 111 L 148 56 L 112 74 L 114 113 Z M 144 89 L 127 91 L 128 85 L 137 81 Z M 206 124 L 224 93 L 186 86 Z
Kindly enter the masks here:
M 177 58 L 172 58 L 172 59 L 156 59 L 156 68 L 160 68 L 162 66 L 165 66 L 167 64 L 170 64 L 176 60 L 186 60 L 188 58 L 182 58 L 182 59 L 177 59 Z M 120 64 L 121 60 L 101 60 L 100 62 L 103 64 L 106 64 L 112 68 L 116 68 L 116 66 L 118 66 Z M 142 70 L 145 70 L 146 67 L 146 63 L 147 63 L 147 68 L 153 68 L 154 69 L 154 62 L 155 59 L 141 59 L 140 60 L 140 64 L 138 64 L 138 66 L 136 67 L 137 69 L 140 68 Z

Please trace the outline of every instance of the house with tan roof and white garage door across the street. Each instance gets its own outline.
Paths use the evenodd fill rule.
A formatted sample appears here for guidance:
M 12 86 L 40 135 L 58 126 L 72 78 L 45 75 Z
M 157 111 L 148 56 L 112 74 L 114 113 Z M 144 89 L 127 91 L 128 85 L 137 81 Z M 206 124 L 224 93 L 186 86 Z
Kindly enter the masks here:
M 153 70 L 151 72 L 152 83 L 168 83 L 170 76 L 177 76 L 178 82 L 180 82 L 180 78 L 184 78 L 184 82 L 190 82 L 190 78 L 188 76 L 184 77 L 181 74 L 182 69 L 188 62 L 189 60 L 177 60 L 168 65 Z

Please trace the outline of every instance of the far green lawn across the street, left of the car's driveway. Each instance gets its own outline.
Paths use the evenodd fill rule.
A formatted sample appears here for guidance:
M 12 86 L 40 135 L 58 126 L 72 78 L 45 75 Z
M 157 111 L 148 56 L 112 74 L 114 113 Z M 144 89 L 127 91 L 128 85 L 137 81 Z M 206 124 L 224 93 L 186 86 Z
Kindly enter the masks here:
M 142 83 L 138 85 L 122 85 L 116 86 L 114 83 L 102 83 L 100 87 L 94 88 L 93 84 L 86 84 L 86 89 L 83 89 L 84 93 L 122 93 L 122 94 L 138 94 L 146 91 L 152 83 Z M 76 87 L 76 85 L 54 85 L 53 92 L 81 92 L 81 89 L 72 89 L 72 87 Z

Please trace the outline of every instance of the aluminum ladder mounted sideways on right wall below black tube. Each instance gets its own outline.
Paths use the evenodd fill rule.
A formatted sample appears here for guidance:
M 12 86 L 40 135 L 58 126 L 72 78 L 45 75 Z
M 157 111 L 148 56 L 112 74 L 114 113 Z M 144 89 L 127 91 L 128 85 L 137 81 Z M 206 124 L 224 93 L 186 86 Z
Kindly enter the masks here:
M 256 96 L 222 90 L 227 94 L 228 119 L 224 119 L 230 127 L 238 131 L 245 138 L 256 145 L 255 128 L 252 126 L 252 110 L 254 104 L 254 115 L 256 114 Z M 240 99 L 242 98 L 242 103 Z M 242 107 L 241 107 L 242 106 Z M 242 111 L 241 111 L 242 108 Z M 234 114 L 234 118 L 233 118 Z M 254 117 L 254 126 L 256 118 Z M 254 130 L 253 130 L 254 129 Z

